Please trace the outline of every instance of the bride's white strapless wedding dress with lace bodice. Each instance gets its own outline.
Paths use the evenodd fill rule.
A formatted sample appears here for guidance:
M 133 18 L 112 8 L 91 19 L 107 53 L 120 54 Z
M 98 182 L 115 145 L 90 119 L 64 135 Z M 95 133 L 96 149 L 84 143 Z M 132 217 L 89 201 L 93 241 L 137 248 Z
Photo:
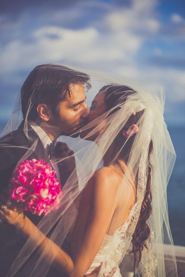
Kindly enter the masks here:
M 138 222 L 139 211 L 140 207 L 138 207 L 138 203 L 136 203 L 130 212 L 127 222 L 119 227 L 114 232 L 113 236 L 105 234 L 101 247 L 86 274 L 91 273 L 102 263 L 101 271 L 98 275 L 99 277 L 109 276 L 109 272 L 113 269 L 116 269 L 113 277 L 121 277 L 119 264 L 130 246 L 132 235 L 134 234 L 135 227 Z M 150 234 L 150 239 L 152 239 L 152 233 Z M 146 241 L 146 243 L 148 244 L 148 241 Z M 143 265 L 142 276 L 154 277 L 157 260 L 154 259 L 151 251 L 143 249 L 141 263 Z

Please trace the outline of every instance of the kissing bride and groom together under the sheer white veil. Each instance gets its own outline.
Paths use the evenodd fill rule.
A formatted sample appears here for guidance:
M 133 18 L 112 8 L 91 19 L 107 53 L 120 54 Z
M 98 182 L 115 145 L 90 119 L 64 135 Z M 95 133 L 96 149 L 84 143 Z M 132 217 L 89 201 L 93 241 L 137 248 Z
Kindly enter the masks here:
M 55 64 L 31 71 L 0 138 L 3 277 L 167 276 L 167 241 L 177 276 L 166 206 L 175 151 L 163 101 L 162 91 L 108 74 Z M 27 163 L 38 160 L 60 186 L 47 213 L 10 197 L 15 172 L 22 180 L 15 195 L 26 195 L 18 169 L 31 175 Z M 44 209 L 55 193 L 47 174 Z

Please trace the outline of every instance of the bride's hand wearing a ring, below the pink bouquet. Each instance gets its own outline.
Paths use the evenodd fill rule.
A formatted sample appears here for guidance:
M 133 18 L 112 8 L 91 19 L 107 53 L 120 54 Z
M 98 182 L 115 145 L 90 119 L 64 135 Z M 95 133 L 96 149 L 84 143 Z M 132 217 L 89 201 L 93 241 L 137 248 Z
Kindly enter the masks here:
M 24 228 L 25 215 L 23 206 L 15 201 L 8 200 L 5 194 L 0 194 L 0 218 L 16 228 Z

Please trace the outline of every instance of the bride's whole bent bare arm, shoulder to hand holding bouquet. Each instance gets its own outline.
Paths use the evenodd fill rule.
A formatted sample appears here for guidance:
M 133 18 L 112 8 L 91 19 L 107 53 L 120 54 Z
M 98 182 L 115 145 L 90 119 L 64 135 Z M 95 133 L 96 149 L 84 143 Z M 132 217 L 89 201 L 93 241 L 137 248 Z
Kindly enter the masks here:
M 23 215 L 23 212 L 4 208 L 3 211 L 0 211 L 0 216 L 18 228 L 26 238 L 31 238 L 36 245 L 39 244 L 40 250 L 45 251 L 49 261 L 54 257 L 53 265 L 55 267 L 61 271 L 66 271 L 70 277 L 81 277 L 87 272 L 97 254 L 113 215 L 115 199 L 113 197 L 113 182 L 109 177 L 111 177 L 109 170 L 106 171 L 102 168 L 95 172 L 90 180 L 90 186 L 93 186 L 91 218 L 86 225 L 83 234 L 84 239 L 76 249 L 76 255 L 73 259 L 43 235 Z M 81 214 L 81 217 L 83 218 L 83 214 Z

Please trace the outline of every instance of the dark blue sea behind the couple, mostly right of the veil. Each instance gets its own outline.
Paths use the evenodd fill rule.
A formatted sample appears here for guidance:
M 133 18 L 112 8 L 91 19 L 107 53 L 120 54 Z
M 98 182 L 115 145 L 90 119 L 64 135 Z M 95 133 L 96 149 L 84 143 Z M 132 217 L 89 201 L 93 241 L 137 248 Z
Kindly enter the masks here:
M 0 134 L 6 122 L 0 122 Z M 175 166 L 167 186 L 168 213 L 175 245 L 185 246 L 185 127 L 168 126 L 168 131 L 177 155 Z

